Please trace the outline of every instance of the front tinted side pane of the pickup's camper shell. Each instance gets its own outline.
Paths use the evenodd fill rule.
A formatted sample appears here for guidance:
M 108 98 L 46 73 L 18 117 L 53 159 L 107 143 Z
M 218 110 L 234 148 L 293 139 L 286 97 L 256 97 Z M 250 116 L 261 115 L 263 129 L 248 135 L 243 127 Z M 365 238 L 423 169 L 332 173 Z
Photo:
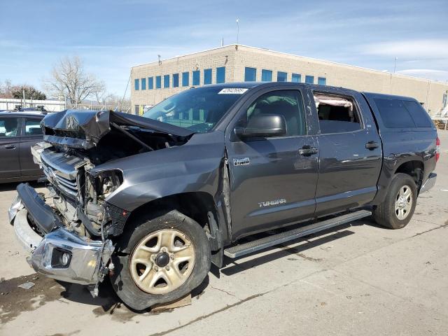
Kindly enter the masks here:
M 400 99 L 374 99 L 379 115 L 387 128 L 415 127 L 414 120 Z

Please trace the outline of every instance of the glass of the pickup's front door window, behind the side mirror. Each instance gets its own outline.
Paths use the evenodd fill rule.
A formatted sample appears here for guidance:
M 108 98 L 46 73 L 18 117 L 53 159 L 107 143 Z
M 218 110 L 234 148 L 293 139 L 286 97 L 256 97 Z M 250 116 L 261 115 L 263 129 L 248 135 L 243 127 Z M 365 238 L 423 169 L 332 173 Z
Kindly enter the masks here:
M 247 120 L 260 114 L 283 116 L 286 121 L 286 137 L 307 134 L 300 91 L 281 90 L 262 94 L 247 109 Z

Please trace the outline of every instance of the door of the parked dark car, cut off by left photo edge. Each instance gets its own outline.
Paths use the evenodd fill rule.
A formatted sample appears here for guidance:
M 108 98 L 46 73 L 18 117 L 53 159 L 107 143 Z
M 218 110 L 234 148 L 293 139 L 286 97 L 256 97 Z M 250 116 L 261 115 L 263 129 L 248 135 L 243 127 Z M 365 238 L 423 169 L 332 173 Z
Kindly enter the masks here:
M 0 116 L 0 179 L 20 176 L 20 118 Z

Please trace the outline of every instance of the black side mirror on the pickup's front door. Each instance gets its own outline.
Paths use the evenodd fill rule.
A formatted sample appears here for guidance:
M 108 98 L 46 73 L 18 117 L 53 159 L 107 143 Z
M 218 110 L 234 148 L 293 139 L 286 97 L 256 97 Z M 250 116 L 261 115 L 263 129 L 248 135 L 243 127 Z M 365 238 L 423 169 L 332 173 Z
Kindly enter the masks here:
M 281 137 L 286 134 L 286 121 L 279 114 L 261 114 L 248 120 L 246 127 L 235 127 L 240 139 Z

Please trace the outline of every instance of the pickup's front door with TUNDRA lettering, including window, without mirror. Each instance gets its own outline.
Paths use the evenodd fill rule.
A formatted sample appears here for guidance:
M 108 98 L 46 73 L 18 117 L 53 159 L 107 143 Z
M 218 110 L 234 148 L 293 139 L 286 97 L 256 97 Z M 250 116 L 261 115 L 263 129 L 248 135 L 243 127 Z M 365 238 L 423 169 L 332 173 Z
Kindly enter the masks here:
M 236 125 L 260 114 L 283 116 L 284 136 L 238 139 L 231 131 L 226 137 L 233 240 L 314 216 L 318 143 L 307 134 L 302 97 L 301 90 L 268 91 L 239 111 Z

